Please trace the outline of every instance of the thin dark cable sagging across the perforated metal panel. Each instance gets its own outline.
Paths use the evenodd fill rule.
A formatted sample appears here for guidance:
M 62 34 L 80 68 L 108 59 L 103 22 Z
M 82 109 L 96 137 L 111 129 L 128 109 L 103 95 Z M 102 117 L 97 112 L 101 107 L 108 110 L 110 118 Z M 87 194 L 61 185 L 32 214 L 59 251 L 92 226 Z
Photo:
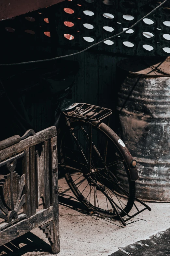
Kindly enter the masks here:
M 91 49 L 92 47 L 100 44 L 100 43 L 103 43 L 105 42 L 106 40 L 108 39 L 112 39 L 116 36 L 119 36 L 123 33 L 125 33 L 126 31 L 128 31 L 129 29 L 133 28 L 135 25 L 137 25 L 140 21 L 142 21 L 143 19 L 145 19 L 146 17 L 148 17 L 150 14 L 152 14 L 153 12 L 155 12 L 158 8 L 160 8 L 164 3 L 166 3 L 167 1 L 169 0 L 164 0 L 160 5 L 158 5 L 157 7 L 155 7 L 155 9 L 153 9 L 152 11 L 150 11 L 148 14 L 146 14 L 143 18 L 141 18 L 140 20 L 136 21 L 135 24 L 133 24 L 132 26 L 128 27 L 127 29 L 125 29 L 124 31 L 116 34 L 116 35 L 113 35 L 113 36 L 110 36 L 110 37 L 107 37 L 105 38 L 104 40 L 98 42 L 98 43 L 94 43 L 92 44 L 91 46 L 83 49 L 82 51 L 79 51 L 79 52 L 76 52 L 76 53 L 72 53 L 72 54 L 68 54 L 68 55 L 64 55 L 64 56 L 59 56 L 59 57 L 55 57 L 55 58 L 51 58 L 51 59 L 45 59 L 45 60 L 32 60 L 32 61 L 25 61 L 25 62 L 18 62 L 18 63 L 8 63 L 8 64 L 0 64 L 0 66 L 13 66 L 13 65 L 23 65 L 23 64 L 28 64 L 28 63 L 38 63 L 38 62 L 45 62 L 45 61 L 51 61 L 51 60 L 58 60 L 58 59 L 62 59 L 62 58 L 66 58 L 66 57 L 70 57 L 70 56 L 74 56 L 74 55 L 77 55 L 77 54 L 80 54 L 80 53 L 83 53 L 89 49 Z

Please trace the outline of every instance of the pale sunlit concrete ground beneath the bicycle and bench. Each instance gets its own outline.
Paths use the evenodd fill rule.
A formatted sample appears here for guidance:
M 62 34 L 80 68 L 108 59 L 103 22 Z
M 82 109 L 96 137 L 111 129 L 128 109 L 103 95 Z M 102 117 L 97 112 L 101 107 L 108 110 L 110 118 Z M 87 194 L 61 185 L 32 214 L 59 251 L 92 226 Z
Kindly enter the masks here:
M 87 215 L 81 203 L 76 200 L 70 191 L 64 178 L 59 180 L 59 192 L 61 252 L 58 256 L 126 255 L 119 248 L 126 251 L 127 248 L 135 246 L 132 244 L 140 240 L 146 241 L 142 241 L 142 245 L 148 244 L 151 241 L 150 236 L 154 234 L 159 236 L 160 232 L 170 228 L 170 203 L 147 203 L 152 209 L 151 212 L 146 210 L 140 213 L 136 218 L 133 218 L 134 222 L 129 221 L 130 224 L 122 227 L 118 221 L 112 222 L 108 218 L 101 219 L 95 215 Z M 168 247 L 169 243 L 170 241 L 167 241 Z M 127 247 L 129 245 L 131 247 Z M 147 246 L 144 245 L 143 247 Z M 135 248 L 137 247 L 135 246 Z M 158 249 L 161 250 L 160 247 Z M 0 256 L 2 255 L 50 256 L 53 254 L 51 253 L 48 239 L 45 238 L 42 230 L 35 229 L 13 240 L 11 243 L 1 246 Z M 131 255 L 151 254 L 143 254 L 143 252 L 136 254 L 133 251 Z M 170 255 L 170 253 L 161 255 Z

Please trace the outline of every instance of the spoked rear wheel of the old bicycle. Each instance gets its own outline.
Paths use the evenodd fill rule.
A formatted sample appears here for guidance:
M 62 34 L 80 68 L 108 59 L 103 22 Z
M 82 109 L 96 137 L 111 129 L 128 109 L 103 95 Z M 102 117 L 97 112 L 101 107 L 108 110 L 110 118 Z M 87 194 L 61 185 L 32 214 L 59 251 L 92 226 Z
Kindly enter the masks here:
M 78 200 L 103 216 L 115 218 L 129 213 L 135 201 L 135 181 L 130 179 L 117 134 L 104 123 L 93 124 L 90 129 L 88 123 L 73 121 L 61 137 L 60 166 Z

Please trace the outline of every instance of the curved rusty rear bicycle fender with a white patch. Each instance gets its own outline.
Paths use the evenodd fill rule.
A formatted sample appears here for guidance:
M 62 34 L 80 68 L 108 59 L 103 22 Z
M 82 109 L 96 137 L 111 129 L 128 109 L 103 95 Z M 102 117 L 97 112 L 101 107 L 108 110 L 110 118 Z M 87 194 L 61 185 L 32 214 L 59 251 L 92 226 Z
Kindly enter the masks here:
M 134 160 L 133 157 L 131 156 L 128 148 L 126 145 L 123 143 L 123 141 L 120 139 L 120 137 L 111 129 L 109 128 L 106 124 L 101 123 L 101 122 L 96 122 L 93 123 L 94 126 L 97 126 L 100 130 L 102 130 L 107 136 L 111 138 L 113 143 L 119 148 L 120 153 L 125 159 L 125 162 L 127 164 L 129 174 L 130 174 L 130 179 L 131 180 L 138 180 L 139 179 L 139 174 L 137 172 L 136 167 L 131 166 L 131 162 Z

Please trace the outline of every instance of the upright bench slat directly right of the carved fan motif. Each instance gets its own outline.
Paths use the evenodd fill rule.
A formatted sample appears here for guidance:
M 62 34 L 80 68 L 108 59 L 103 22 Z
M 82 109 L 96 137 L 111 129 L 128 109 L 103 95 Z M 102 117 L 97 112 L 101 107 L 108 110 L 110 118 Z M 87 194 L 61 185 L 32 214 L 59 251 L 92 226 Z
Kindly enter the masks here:
M 31 216 L 31 200 L 30 200 L 30 161 L 29 161 L 29 148 L 25 150 L 23 158 L 22 172 L 25 174 L 25 187 L 24 193 L 26 194 L 26 202 L 24 204 L 24 213 L 28 218 Z

